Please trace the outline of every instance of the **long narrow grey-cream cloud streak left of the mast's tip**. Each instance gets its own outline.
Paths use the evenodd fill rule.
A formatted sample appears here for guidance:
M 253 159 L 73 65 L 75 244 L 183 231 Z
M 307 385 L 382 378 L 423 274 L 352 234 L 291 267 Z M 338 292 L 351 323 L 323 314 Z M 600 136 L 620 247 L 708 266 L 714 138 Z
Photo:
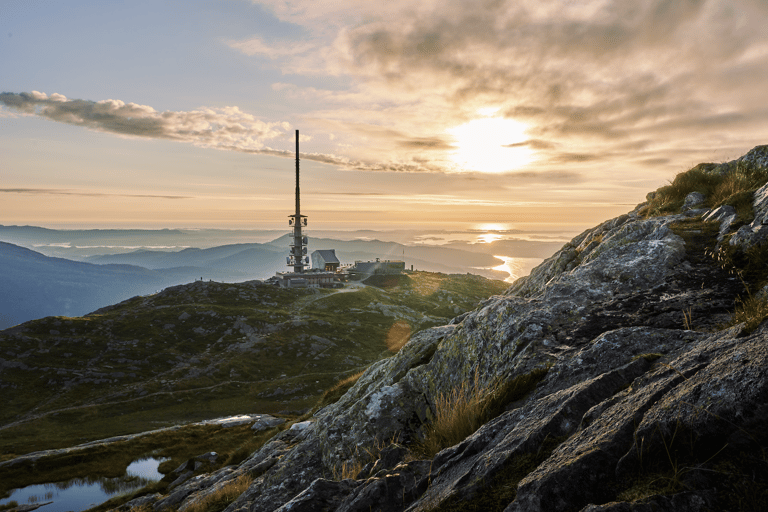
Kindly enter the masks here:
M 95 131 L 177 140 L 203 147 L 256 150 L 263 148 L 265 141 L 284 136 L 289 129 L 288 123 L 264 122 L 237 107 L 158 112 L 147 105 L 121 100 L 72 100 L 38 91 L 3 92 L 0 103 L 22 114 Z

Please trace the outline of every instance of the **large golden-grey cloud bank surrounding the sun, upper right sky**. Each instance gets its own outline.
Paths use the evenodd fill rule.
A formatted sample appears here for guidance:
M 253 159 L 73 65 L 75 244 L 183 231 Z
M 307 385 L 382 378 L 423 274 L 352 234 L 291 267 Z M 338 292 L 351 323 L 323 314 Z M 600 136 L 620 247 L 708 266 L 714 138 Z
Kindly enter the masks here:
M 418 141 L 488 107 L 529 125 L 529 142 L 512 147 L 540 153 L 533 167 L 637 160 L 639 141 L 662 165 L 768 137 L 756 108 L 768 90 L 762 0 L 258 3 L 318 41 L 285 53 L 284 72 L 323 69 L 351 84 L 282 90 L 332 102 L 321 112 L 340 124 L 358 116 L 391 130 L 392 151 L 428 150 Z

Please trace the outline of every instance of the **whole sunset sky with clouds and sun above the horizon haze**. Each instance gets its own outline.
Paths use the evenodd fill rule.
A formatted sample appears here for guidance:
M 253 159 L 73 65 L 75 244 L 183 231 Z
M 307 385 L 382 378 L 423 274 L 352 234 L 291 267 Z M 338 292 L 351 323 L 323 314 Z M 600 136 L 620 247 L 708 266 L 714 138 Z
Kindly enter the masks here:
M 768 143 L 766 0 L 0 0 L 0 224 L 574 232 Z

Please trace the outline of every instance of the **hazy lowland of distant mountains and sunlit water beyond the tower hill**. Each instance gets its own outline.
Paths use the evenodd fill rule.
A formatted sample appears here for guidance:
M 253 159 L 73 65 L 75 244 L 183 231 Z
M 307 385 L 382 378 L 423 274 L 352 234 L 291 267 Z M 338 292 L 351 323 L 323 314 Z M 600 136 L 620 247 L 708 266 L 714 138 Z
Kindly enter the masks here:
M 327 235 L 339 238 L 310 237 L 310 251 L 335 249 L 346 264 L 403 260 L 407 268 L 508 281 L 527 274 L 562 245 L 556 241 L 557 233 L 543 240 L 497 231 L 367 230 Z M 81 316 L 135 295 L 200 279 L 265 280 L 286 270 L 288 245 L 288 235 L 281 236 L 279 230 L 0 226 L 0 263 L 6 271 L 0 285 L 0 329 L 44 316 Z

